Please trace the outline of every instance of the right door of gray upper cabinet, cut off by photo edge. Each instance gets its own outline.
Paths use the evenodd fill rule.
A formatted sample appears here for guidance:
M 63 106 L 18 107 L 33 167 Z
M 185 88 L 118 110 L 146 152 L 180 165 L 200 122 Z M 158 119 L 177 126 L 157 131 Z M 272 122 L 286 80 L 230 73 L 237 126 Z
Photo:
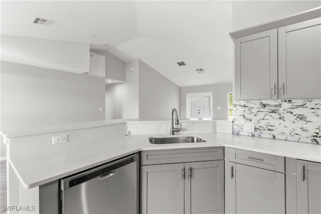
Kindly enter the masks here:
M 321 97 L 321 18 L 278 29 L 279 98 Z

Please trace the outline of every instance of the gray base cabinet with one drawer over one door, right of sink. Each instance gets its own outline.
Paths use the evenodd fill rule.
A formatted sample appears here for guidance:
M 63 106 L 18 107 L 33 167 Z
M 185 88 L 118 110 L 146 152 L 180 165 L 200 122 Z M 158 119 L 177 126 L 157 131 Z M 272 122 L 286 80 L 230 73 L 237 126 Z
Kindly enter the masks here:
M 230 151 L 228 213 L 285 213 L 284 157 Z

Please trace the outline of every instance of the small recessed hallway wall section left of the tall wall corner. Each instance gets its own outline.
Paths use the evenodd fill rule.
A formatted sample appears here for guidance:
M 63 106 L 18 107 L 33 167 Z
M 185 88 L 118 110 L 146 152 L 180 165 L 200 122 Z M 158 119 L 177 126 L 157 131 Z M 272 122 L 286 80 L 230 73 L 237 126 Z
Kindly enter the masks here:
M 122 119 L 122 96 L 124 83 L 108 84 L 105 86 L 106 120 Z

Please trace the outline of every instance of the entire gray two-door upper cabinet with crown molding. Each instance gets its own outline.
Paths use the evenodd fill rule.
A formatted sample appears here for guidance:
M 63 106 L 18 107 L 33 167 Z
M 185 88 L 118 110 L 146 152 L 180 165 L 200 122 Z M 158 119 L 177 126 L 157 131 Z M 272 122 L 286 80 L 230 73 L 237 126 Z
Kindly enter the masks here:
M 321 97 L 320 10 L 230 33 L 234 99 Z

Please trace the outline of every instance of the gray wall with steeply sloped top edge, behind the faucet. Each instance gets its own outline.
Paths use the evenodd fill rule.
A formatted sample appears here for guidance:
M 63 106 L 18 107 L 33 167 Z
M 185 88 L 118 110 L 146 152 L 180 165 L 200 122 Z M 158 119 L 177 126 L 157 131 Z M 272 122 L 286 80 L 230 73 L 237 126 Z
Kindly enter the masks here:
M 180 112 L 180 87 L 139 60 L 139 118 L 171 118 Z

